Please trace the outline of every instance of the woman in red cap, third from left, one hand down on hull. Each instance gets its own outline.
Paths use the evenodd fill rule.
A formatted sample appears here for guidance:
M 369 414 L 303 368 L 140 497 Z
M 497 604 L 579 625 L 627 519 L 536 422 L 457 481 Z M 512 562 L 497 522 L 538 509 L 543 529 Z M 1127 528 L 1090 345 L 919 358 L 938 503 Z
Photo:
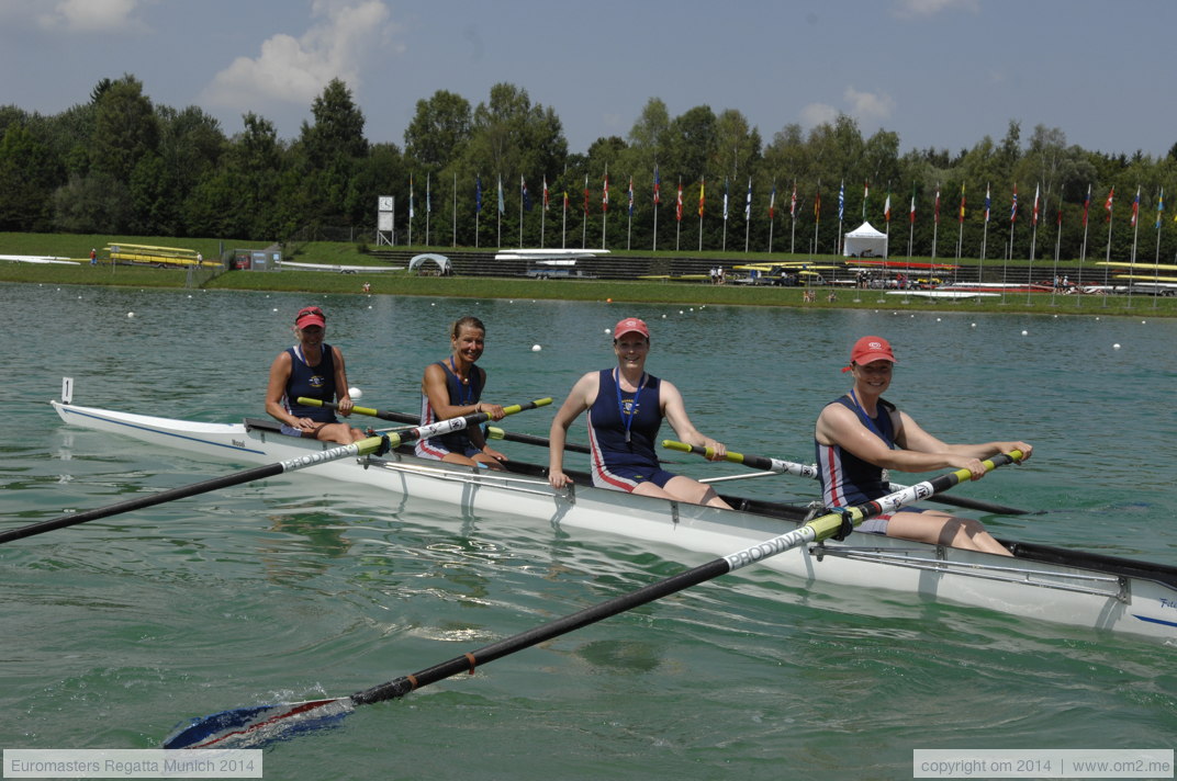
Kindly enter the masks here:
M 661 496 L 729 507 L 713 488 L 698 480 L 671 474 L 658 463 L 654 441 L 663 418 L 689 445 L 714 449 L 713 460 L 727 450 L 704 436 L 686 416 L 678 388 L 646 373 L 650 328 L 637 318 L 625 318 L 613 328 L 617 367 L 590 372 L 580 378 L 552 421 L 547 481 L 553 488 L 571 482 L 564 474 L 564 442 L 568 426 L 588 410 L 588 443 L 592 450 L 593 485 L 646 496 Z

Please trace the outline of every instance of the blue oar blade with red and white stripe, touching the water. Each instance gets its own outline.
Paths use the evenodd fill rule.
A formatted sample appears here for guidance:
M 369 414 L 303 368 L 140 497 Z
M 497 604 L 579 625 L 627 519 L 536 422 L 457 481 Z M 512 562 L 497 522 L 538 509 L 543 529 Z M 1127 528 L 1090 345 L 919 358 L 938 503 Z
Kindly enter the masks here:
M 335 727 L 354 709 L 351 697 L 337 697 L 221 710 L 180 725 L 164 748 L 258 748 Z

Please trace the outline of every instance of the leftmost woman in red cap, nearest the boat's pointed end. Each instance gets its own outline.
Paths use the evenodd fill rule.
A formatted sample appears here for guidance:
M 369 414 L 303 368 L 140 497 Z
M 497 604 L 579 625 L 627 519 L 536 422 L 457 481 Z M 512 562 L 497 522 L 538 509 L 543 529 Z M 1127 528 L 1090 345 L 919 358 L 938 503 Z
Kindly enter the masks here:
M 282 434 L 351 445 L 364 439 L 364 432 L 340 422 L 327 407 L 298 402 L 300 396 L 334 401 L 344 415 L 352 412 L 344 354 L 324 343 L 326 327 L 326 315 L 319 307 L 304 307 L 294 315 L 298 343 L 279 353 L 270 365 L 266 412 L 281 422 Z

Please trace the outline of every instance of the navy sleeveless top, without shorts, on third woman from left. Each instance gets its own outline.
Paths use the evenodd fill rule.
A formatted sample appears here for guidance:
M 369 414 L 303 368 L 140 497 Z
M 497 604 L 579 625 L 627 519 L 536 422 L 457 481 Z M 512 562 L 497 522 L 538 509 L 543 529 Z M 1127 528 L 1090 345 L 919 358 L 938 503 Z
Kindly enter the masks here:
M 588 408 L 588 447 L 594 465 L 658 467 L 654 442 L 661 427 L 661 380 L 645 374 L 637 392 L 618 392 L 617 369 L 601 369 L 597 399 Z M 629 438 L 626 436 L 629 430 Z

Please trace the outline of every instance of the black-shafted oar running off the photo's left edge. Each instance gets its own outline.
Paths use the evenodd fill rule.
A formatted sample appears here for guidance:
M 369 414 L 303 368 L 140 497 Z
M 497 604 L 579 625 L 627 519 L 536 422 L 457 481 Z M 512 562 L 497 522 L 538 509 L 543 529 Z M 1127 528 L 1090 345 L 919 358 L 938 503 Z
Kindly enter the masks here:
M 545 405 L 552 403 L 551 399 L 539 399 L 537 401 L 528 401 L 525 405 L 516 405 L 513 407 L 504 407 L 503 412 L 508 415 L 513 415 L 517 412 L 523 412 L 524 409 L 533 409 L 536 407 L 543 407 Z M 109 518 L 111 515 L 118 515 L 119 513 L 127 513 L 133 509 L 142 509 L 144 507 L 153 507 L 155 505 L 162 505 L 164 502 L 169 502 L 175 499 L 186 499 L 188 496 L 195 496 L 197 494 L 205 494 L 210 490 L 218 490 L 219 488 L 228 488 L 230 486 L 239 486 L 244 482 L 252 482 L 254 480 L 264 480 L 265 478 L 273 478 L 286 472 L 295 472 L 298 469 L 305 469 L 306 467 L 313 467 L 319 463 L 326 463 L 327 461 L 338 461 L 339 459 L 346 459 L 351 456 L 370 455 L 372 453 L 385 453 L 391 448 L 397 447 L 401 442 L 411 442 L 421 438 L 438 436 L 441 434 L 448 434 L 451 432 L 461 430 L 467 426 L 478 426 L 481 422 L 490 420 L 491 416 L 486 413 L 476 413 L 472 415 L 466 415 L 465 418 L 453 418 L 451 420 L 443 420 L 430 426 L 420 426 L 405 432 L 399 432 L 394 434 L 383 434 L 380 436 L 370 436 L 363 439 L 358 442 L 352 442 L 351 445 L 343 445 L 340 447 L 333 447 L 327 450 L 319 450 L 318 453 L 307 453 L 294 459 L 287 459 L 285 461 L 278 461 L 277 463 L 270 463 L 264 467 L 253 467 L 252 469 L 246 469 L 245 472 L 237 472 L 234 474 L 225 475 L 224 478 L 213 478 L 212 480 L 205 480 L 202 482 L 197 482 L 191 486 L 180 486 L 179 488 L 169 488 L 168 490 L 161 490 L 157 494 L 149 494 L 146 496 L 139 496 L 138 499 L 129 499 L 127 501 L 118 502 L 115 505 L 108 505 L 106 507 L 99 507 L 97 509 L 88 509 L 81 513 L 71 513 L 68 515 L 62 515 L 60 518 L 54 518 L 48 521 L 40 521 L 38 523 L 31 523 L 28 526 L 22 526 L 16 529 L 11 529 L 8 532 L 0 532 L 0 545 L 5 542 L 12 542 L 13 540 L 21 540 L 27 536 L 33 536 L 35 534 L 44 534 L 45 532 L 52 532 L 54 529 L 61 529 L 67 526 L 77 526 L 78 523 L 85 523 L 86 521 L 95 521 L 100 518 Z

